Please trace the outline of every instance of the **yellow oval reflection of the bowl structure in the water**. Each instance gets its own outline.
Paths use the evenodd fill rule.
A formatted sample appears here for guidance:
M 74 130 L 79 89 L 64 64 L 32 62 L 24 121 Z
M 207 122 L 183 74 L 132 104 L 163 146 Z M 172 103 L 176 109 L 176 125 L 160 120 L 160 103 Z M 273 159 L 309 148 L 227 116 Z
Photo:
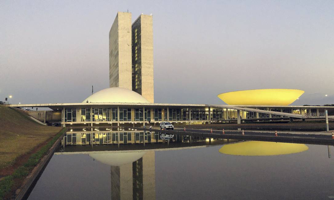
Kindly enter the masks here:
M 283 142 L 246 141 L 226 144 L 219 149 L 220 153 L 239 156 L 273 156 L 299 153 L 308 150 L 305 144 Z

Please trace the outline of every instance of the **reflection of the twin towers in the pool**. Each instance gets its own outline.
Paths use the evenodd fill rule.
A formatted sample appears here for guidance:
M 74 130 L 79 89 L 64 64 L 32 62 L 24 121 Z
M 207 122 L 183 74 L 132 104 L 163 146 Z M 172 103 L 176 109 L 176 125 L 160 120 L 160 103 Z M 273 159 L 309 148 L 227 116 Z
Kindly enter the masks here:
M 128 154 L 125 160 L 138 156 L 138 152 L 121 154 Z M 150 151 L 133 162 L 111 166 L 112 199 L 155 199 L 154 156 L 154 151 Z

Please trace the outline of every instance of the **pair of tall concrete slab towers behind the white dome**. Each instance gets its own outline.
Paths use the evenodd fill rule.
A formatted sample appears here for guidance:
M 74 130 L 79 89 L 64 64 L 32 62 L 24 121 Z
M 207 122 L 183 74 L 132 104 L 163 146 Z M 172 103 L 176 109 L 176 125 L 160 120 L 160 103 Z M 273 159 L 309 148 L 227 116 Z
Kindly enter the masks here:
M 109 32 L 109 86 L 133 90 L 154 103 L 153 20 L 118 12 Z

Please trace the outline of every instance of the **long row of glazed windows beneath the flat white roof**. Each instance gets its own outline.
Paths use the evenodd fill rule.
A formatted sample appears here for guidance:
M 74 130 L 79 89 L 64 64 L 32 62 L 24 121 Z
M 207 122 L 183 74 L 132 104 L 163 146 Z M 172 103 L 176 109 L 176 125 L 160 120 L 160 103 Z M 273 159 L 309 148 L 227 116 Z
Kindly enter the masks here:
M 271 111 L 281 112 L 281 109 L 270 109 Z M 65 109 L 65 122 L 76 122 L 77 109 L 68 108 Z M 291 109 L 283 109 L 285 113 L 291 113 Z M 300 114 L 299 110 L 293 110 L 293 113 Z M 167 109 L 154 108 L 120 108 L 119 115 L 117 108 L 90 108 L 81 109 L 80 121 L 187 121 L 189 120 L 189 109 L 169 109 L 167 119 Z M 205 109 L 191 109 L 190 120 L 208 120 L 208 112 Z M 227 118 L 227 117 L 228 118 Z M 237 116 L 236 110 L 228 110 L 226 115 L 226 109 L 211 109 L 211 120 L 225 120 L 235 119 Z M 269 114 L 256 112 L 242 112 L 241 118 L 269 118 Z M 281 115 L 271 115 L 272 118 L 279 118 Z

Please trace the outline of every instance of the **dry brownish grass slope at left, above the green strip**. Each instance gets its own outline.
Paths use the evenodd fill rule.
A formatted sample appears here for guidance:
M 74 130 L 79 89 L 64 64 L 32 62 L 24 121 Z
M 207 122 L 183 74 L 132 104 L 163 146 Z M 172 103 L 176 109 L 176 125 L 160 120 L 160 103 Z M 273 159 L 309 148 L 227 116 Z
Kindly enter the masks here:
M 0 105 L 0 169 L 12 165 L 60 130 L 38 124 L 22 110 Z

